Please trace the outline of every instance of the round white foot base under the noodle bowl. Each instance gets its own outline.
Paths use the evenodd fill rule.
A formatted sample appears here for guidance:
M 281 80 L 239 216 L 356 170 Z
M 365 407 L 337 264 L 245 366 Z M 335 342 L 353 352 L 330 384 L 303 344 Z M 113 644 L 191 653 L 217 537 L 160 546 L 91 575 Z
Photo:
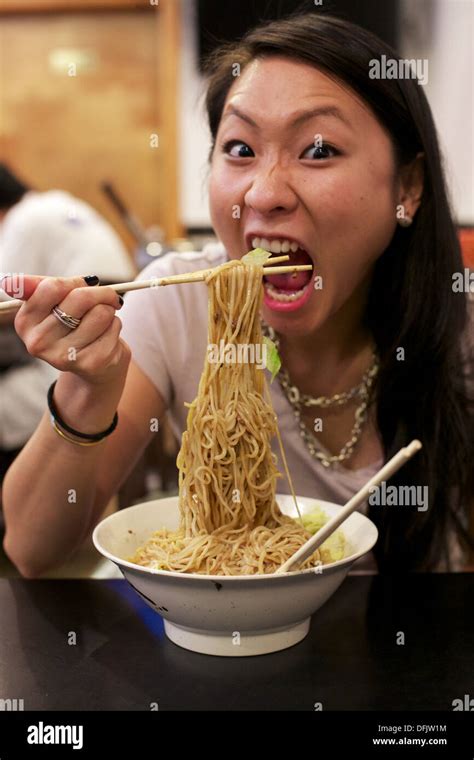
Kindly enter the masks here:
M 218 657 L 253 657 L 288 649 L 304 639 L 309 631 L 310 618 L 284 628 L 239 633 L 202 631 L 164 621 L 168 638 L 183 649 Z

